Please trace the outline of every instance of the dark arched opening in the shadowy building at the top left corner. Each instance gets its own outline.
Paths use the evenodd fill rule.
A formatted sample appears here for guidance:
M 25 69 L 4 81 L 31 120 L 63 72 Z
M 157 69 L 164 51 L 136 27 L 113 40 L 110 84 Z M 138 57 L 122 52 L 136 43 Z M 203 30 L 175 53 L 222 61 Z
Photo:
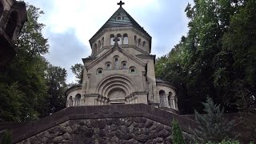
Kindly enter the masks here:
M 9 21 L 6 26 L 6 34 L 9 36 L 10 39 L 14 36 L 14 31 L 16 29 L 18 22 L 18 14 L 16 11 L 11 12 Z

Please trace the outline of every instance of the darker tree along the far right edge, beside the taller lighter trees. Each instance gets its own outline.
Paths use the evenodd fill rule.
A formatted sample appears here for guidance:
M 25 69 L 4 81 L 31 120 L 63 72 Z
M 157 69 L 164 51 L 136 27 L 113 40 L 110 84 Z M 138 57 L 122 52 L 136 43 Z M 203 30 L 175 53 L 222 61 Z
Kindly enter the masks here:
M 248 0 L 230 18 L 230 28 L 222 38 L 223 49 L 230 50 L 234 63 L 230 87 L 240 111 L 256 112 L 256 2 Z

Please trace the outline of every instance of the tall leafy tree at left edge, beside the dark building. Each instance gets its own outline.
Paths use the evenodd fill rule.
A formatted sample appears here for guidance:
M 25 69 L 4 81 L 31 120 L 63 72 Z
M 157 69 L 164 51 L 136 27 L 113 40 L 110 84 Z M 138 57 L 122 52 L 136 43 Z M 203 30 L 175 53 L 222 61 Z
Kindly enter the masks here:
M 44 25 L 38 23 L 43 12 L 34 6 L 26 6 L 28 22 L 24 24 L 16 44 L 18 54 L 8 68 L 0 72 L 1 121 L 38 118 L 47 94 L 46 60 L 42 55 L 48 52 L 49 45 L 42 36 Z M 6 89 L 6 86 L 10 88 Z

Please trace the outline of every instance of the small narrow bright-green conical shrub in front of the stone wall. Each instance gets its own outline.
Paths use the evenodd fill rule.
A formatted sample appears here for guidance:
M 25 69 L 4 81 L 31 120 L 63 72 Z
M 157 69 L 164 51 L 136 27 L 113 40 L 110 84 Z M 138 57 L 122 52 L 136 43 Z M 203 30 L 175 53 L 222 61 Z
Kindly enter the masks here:
M 178 126 L 178 121 L 173 119 L 172 122 L 172 136 L 174 144 L 185 144 L 185 140 L 182 135 L 182 130 Z

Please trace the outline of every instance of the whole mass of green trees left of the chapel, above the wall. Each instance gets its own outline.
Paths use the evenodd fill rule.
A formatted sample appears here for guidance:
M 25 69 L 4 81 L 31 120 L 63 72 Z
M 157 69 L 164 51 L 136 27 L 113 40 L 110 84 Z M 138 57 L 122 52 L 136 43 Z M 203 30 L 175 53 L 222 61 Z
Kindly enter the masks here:
M 30 121 L 65 106 L 66 70 L 46 62 L 49 45 L 38 22 L 43 12 L 26 6 L 28 22 L 16 43 L 18 54 L 0 71 L 0 122 Z

